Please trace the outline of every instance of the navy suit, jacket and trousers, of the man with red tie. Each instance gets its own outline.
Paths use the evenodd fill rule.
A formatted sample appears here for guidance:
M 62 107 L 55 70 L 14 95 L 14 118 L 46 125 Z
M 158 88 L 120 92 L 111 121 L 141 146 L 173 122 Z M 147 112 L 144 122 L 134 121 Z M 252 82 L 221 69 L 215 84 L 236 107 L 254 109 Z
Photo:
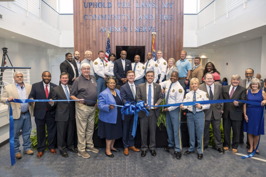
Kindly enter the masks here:
M 29 99 L 33 98 L 36 100 L 44 100 L 52 98 L 52 89 L 56 87 L 56 84 L 50 82 L 50 90 L 48 98 L 46 98 L 43 81 L 32 84 L 32 89 L 29 94 Z M 47 110 L 48 109 L 48 110 Z M 55 106 L 50 106 L 48 102 L 35 102 L 34 106 L 34 117 L 37 130 L 37 150 L 43 152 L 45 150 L 46 130 L 48 132 L 49 145 L 48 149 L 54 149 L 56 143 L 56 123 L 55 117 Z

